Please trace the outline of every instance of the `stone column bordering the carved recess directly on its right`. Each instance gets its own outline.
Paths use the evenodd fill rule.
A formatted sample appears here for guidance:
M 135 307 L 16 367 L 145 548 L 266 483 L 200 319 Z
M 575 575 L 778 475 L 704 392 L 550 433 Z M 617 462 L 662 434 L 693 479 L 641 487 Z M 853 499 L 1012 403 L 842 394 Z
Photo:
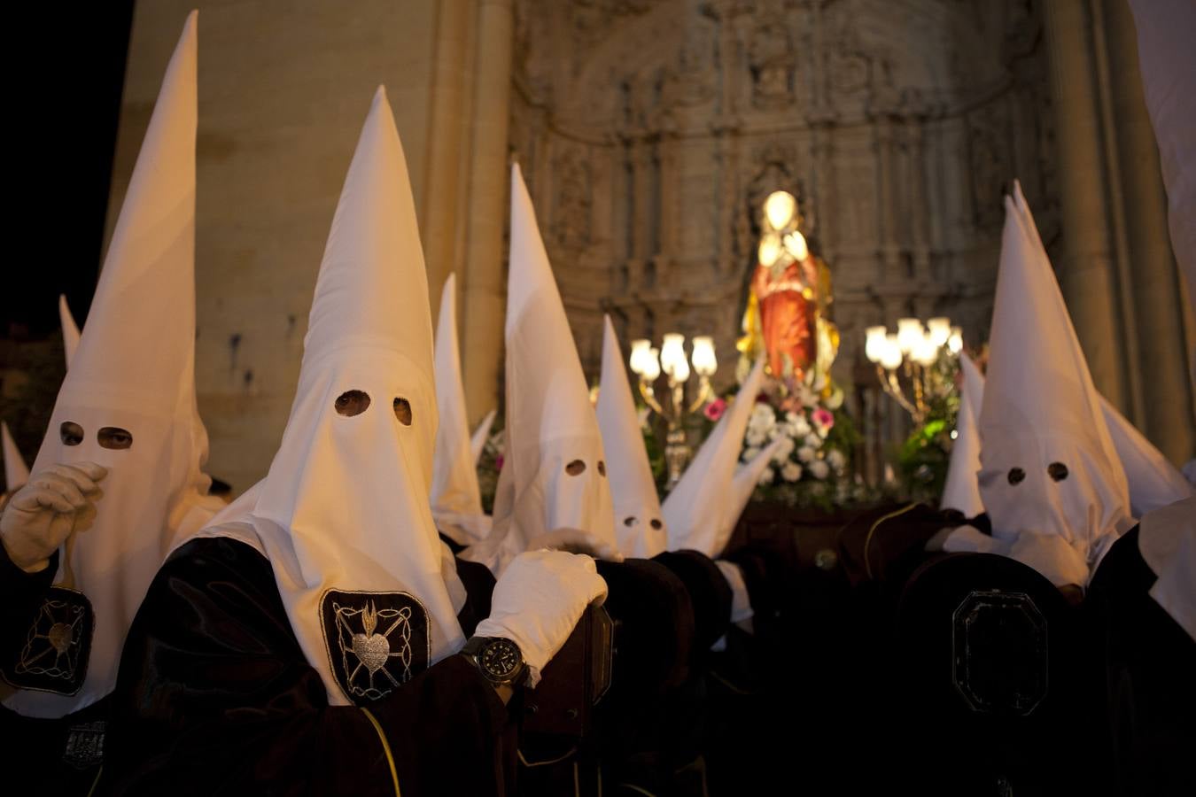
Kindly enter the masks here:
M 1063 228 L 1063 256 L 1055 269 L 1092 379 L 1124 410 L 1122 320 L 1086 5 L 1086 0 L 1048 0 L 1043 7 Z

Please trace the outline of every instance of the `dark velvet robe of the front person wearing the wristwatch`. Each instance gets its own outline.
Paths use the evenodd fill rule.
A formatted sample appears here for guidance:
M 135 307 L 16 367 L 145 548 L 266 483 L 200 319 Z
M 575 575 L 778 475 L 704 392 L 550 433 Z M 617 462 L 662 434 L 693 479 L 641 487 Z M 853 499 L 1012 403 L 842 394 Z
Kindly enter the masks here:
M 269 560 L 242 542 L 193 540 L 167 559 L 129 631 L 114 698 L 104 793 L 395 793 L 370 717 L 329 705 Z M 464 657 L 368 709 L 404 797 L 511 791 L 514 725 Z

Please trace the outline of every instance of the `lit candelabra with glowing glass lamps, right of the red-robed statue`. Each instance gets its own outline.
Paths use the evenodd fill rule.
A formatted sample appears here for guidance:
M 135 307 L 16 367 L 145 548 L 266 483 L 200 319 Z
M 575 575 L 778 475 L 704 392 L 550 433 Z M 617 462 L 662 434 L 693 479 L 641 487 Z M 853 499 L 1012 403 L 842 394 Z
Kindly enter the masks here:
M 929 409 L 927 397 L 934 388 L 933 366 L 944 349 L 952 355 L 963 349 L 962 331 L 951 326 L 951 319 L 932 318 L 923 327 L 916 318 L 901 318 L 896 333 L 884 326 L 869 326 L 864 350 L 868 362 L 877 366 L 877 378 L 885 393 L 921 424 Z M 910 386 L 913 399 L 907 397 L 902 376 Z

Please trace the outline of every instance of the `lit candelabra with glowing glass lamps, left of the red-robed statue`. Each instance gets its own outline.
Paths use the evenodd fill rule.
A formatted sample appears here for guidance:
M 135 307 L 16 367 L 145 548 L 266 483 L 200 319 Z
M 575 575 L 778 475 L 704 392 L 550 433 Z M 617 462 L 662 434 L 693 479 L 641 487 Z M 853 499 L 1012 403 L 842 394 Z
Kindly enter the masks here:
M 697 397 L 687 405 L 685 384 L 691 375 L 690 360 L 694 363 L 692 373 L 697 374 L 698 382 Z M 690 454 L 682 422 L 687 415 L 700 410 L 712 394 L 710 376 L 719 367 L 714 356 L 714 341 L 704 335 L 695 337 L 694 350 L 689 360 L 685 358 L 684 335 L 676 332 L 665 335 L 659 349 L 652 345 L 652 341 L 631 341 L 630 366 L 631 372 L 640 378 L 640 396 L 643 397 L 648 407 L 669 424 L 669 433 L 665 437 L 665 462 L 669 466 L 669 489 L 671 490 L 681 480 L 682 471 L 689 461 Z M 653 387 L 661 372 L 669 380 L 669 398 L 664 403 L 657 399 Z

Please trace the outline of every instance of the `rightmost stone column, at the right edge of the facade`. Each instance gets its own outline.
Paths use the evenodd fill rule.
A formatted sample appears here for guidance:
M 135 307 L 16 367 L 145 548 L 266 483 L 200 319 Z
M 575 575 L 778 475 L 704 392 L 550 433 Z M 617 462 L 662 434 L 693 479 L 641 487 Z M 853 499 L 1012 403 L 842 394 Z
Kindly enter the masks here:
M 1109 55 L 1110 94 L 1117 131 L 1130 252 L 1131 299 L 1136 308 L 1136 351 L 1148 400 L 1142 431 L 1173 461 L 1196 449 L 1196 418 L 1188 379 L 1183 287 L 1167 234 L 1167 200 L 1159 151 L 1142 94 L 1137 37 L 1125 0 L 1103 4 Z

